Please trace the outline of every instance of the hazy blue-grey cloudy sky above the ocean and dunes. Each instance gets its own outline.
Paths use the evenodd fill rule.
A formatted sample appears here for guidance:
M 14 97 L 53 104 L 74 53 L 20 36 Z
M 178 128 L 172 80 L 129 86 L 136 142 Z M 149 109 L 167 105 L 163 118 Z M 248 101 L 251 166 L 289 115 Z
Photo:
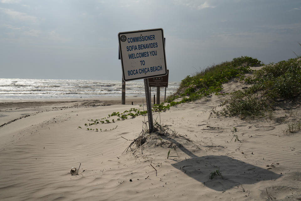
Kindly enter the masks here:
M 301 55 L 300 0 L 0 0 L 0 78 L 121 80 L 118 33 L 157 28 L 170 81 Z

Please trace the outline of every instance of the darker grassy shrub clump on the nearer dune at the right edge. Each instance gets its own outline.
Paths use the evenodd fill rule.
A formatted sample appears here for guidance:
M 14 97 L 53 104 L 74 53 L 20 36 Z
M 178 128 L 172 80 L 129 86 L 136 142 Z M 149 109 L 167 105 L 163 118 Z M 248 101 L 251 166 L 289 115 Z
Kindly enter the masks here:
M 215 114 L 261 118 L 271 116 L 275 107 L 293 101 L 301 94 L 301 60 L 298 58 L 271 63 L 253 73 L 252 87 L 230 94 Z

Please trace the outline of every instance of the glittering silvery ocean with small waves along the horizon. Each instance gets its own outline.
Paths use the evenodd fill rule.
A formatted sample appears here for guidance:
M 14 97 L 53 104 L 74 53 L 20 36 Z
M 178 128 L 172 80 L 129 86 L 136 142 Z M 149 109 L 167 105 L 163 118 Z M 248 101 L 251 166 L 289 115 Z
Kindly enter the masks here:
M 166 97 L 177 91 L 180 82 L 169 82 Z M 126 97 L 144 97 L 143 80 L 125 83 Z M 0 99 L 54 99 L 121 97 L 121 81 L 112 80 L 58 80 L 0 78 Z M 160 96 L 164 97 L 161 87 Z M 151 96 L 156 87 L 151 87 Z

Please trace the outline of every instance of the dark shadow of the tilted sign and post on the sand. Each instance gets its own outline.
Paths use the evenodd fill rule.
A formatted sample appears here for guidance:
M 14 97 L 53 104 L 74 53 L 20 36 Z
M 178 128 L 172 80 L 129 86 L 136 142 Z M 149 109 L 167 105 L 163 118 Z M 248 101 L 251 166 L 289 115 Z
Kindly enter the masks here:
M 241 184 L 254 184 L 281 177 L 281 174 L 276 174 L 268 169 L 254 166 L 229 156 L 199 157 L 187 150 L 175 139 L 165 139 L 178 145 L 179 149 L 191 157 L 190 159 L 174 163 L 172 166 L 216 191 L 225 191 Z M 210 173 L 216 170 L 219 170 L 221 176 L 216 175 L 210 180 Z

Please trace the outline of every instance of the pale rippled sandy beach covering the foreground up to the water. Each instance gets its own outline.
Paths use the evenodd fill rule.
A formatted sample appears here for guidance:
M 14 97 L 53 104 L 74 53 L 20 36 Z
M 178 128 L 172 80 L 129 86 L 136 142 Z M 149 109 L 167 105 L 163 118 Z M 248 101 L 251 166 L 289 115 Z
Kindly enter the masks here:
M 173 135 L 145 135 L 128 151 L 147 116 L 107 117 L 143 110 L 141 97 L 126 105 L 118 98 L 1 100 L 0 200 L 301 200 L 301 133 L 282 132 L 301 118 L 300 105 L 243 120 L 212 112 L 222 98 L 153 113 Z M 102 118 L 111 123 L 85 126 Z

